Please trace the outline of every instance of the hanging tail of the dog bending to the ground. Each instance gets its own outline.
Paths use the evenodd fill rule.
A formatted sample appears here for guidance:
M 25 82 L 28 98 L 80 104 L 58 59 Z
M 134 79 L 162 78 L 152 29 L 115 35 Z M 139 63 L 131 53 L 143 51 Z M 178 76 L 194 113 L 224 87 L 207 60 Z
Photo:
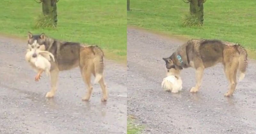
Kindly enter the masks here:
M 239 81 L 241 81 L 245 77 L 245 71 L 248 65 L 247 52 L 245 48 L 239 44 L 237 44 L 237 50 L 240 53 L 238 60 L 238 70 L 240 71 Z

